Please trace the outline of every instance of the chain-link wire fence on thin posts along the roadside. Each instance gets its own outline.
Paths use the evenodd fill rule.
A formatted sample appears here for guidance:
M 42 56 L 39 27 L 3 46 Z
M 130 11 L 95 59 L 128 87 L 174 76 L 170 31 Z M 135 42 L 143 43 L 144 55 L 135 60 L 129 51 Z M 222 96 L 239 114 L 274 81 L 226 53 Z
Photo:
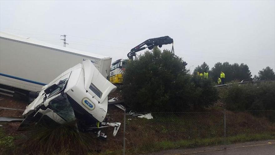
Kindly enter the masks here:
M 125 130 L 121 126 L 125 154 L 211 145 L 225 148 L 233 142 L 275 136 L 275 111 L 126 113 L 125 122 Z

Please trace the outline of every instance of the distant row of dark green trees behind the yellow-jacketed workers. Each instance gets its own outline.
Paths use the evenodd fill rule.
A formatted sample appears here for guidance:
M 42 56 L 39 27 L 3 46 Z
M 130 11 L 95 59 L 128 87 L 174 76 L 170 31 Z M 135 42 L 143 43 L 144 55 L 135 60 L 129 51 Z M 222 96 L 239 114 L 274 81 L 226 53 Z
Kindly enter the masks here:
M 209 69 L 209 66 L 203 62 L 202 65 L 198 65 L 194 71 L 193 75 L 197 75 L 197 72 L 204 73 L 208 72 L 209 77 L 216 82 L 217 78 L 220 77 L 220 73 L 223 71 L 225 73 L 225 81 L 250 81 L 250 80 L 275 80 L 275 74 L 272 68 L 267 66 L 258 72 L 258 76 L 255 75 L 252 78 L 249 67 L 246 64 L 238 63 L 229 64 L 228 62 L 217 62 L 212 69 Z

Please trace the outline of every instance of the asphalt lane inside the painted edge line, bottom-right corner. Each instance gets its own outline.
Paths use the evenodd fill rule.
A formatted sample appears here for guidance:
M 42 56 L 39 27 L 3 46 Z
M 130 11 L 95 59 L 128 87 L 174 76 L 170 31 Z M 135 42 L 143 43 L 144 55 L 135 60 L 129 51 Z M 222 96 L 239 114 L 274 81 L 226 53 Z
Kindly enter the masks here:
M 222 151 L 195 153 L 194 155 L 275 155 L 275 144 L 232 148 Z

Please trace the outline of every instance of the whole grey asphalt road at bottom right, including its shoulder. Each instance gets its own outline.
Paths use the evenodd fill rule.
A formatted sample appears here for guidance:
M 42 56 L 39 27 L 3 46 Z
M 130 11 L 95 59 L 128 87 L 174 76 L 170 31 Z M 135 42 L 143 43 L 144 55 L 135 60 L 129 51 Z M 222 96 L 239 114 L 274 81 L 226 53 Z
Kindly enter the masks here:
M 212 147 L 174 149 L 147 155 L 275 155 L 275 140 L 244 142 Z

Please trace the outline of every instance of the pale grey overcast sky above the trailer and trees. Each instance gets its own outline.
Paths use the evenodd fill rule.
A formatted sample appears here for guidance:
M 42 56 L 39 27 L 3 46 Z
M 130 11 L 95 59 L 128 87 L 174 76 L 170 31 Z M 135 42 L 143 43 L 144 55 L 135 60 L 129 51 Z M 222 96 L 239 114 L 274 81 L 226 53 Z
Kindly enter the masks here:
M 67 47 L 113 61 L 168 35 L 191 70 L 204 61 L 245 63 L 253 76 L 275 68 L 275 1 L 1 1 L 0 29 L 60 46 L 66 34 Z

